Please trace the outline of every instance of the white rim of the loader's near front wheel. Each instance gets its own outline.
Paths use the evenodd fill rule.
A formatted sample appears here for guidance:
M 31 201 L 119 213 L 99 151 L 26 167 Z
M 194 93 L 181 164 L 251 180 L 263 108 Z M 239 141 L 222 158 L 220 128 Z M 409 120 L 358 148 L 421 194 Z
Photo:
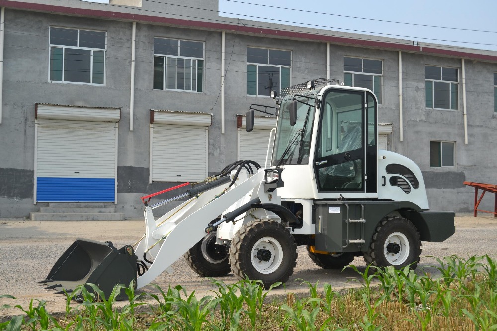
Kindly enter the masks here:
M 268 261 L 261 260 L 257 257 L 259 250 L 268 250 L 271 257 Z M 269 274 L 276 271 L 283 261 L 283 249 L 280 243 L 271 237 L 259 239 L 252 247 L 250 254 L 252 265 L 257 272 Z

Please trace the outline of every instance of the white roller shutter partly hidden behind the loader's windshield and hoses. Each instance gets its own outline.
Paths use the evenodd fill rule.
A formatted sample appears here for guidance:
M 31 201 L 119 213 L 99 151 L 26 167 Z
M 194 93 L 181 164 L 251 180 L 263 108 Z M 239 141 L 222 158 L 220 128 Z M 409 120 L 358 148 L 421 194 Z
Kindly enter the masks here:
M 269 143 L 271 130 L 254 129 L 252 132 L 247 132 L 245 129 L 239 129 L 238 134 L 238 152 L 239 160 L 252 160 L 265 168 L 267 147 Z M 274 139 L 274 137 L 273 137 Z M 270 154 L 272 154 L 273 144 L 271 143 Z M 270 163 L 270 157 L 269 161 Z

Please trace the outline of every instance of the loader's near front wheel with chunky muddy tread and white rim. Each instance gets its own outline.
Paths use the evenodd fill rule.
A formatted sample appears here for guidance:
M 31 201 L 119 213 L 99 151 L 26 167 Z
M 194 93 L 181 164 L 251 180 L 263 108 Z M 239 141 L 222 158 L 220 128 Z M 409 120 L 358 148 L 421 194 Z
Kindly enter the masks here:
M 265 288 L 286 282 L 297 265 L 297 244 L 290 231 L 272 220 L 252 221 L 240 228 L 230 245 L 235 277 L 260 280 Z

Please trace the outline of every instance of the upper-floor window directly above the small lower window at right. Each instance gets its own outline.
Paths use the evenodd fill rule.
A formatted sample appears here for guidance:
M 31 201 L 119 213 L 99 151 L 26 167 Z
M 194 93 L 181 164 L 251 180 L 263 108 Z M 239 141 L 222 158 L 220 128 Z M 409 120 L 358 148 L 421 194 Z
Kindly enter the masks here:
M 457 109 L 457 68 L 426 66 L 426 108 Z

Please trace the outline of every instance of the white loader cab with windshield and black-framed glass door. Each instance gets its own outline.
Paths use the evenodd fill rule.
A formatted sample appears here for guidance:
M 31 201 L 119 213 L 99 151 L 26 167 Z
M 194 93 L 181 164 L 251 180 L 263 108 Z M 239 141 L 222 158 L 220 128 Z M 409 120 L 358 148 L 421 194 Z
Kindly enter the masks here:
M 271 162 L 284 168 L 278 194 L 377 198 L 376 128 L 377 100 L 367 89 L 325 85 L 281 96 Z

